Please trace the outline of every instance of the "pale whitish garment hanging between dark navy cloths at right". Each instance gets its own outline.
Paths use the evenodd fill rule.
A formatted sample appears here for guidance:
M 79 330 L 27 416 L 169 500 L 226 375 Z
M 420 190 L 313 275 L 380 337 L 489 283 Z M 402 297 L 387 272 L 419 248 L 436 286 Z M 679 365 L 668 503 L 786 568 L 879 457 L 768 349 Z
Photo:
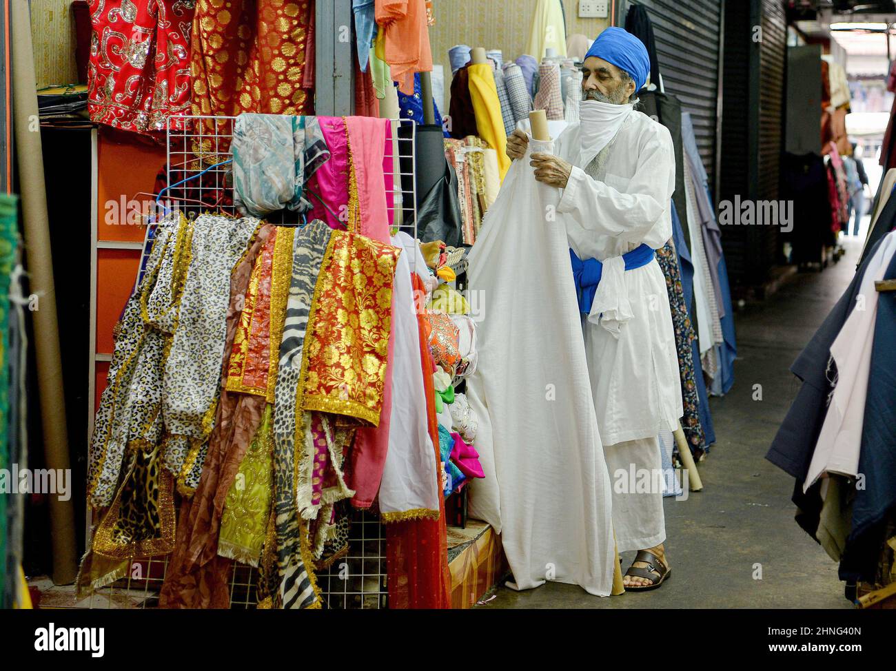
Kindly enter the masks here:
M 824 473 L 855 477 L 858 473 L 859 445 L 868 395 L 871 350 L 874 347 L 874 320 L 878 292 L 874 280 L 883 275 L 896 252 L 896 233 L 883 238 L 871 257 L 859 288 L 862 309 L 853 310 L 831 343 L 831 359 L 837 378 L 821 433 L 803 484 L 805 492 Z

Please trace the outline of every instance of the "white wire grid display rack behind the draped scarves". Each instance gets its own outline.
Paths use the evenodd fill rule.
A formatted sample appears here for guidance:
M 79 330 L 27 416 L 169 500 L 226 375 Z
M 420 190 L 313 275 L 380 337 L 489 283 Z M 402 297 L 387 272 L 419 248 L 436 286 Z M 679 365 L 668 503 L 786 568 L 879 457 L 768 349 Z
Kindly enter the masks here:
M 236 215 L 233 206 L 232 154 L 230 143 L 236 116 L 190 116 L 192 132 L 168 127 L 168 187 L 159 194 L 159 211 L 181 211 L 194 218 L 204 211 Z M 416 176 L 414 174 L 415 126 L 409 119 L 392 123 L 393 142 L 385 143 L 383 168 L 392 165 L 392 203 L 389 216 L 392 232 L 402 230 L 417 237 Z M 199 176 L 202 173 L 202 177 Z M 188 197 L 189 195 L 189 197 Z M 198 196 L 198 197 L 197 197 Z M 314 198 L 314 194 L 312 194 Z M 294 212 L 280 211 L 265 218 L 278 225 L 301 225 Z M 147 226 L 137 284 L 158 224 Z M 413 271 L 414 257 L 408 262 Z M 332 565 L 316 572 L 325 607 L 387 607 L 385 533 L 372 512 L 353 511 L 349 529 L 349 552 Z M 159 590 L 168 569 L 168 556 L 136 557 L 127 578 L 97 589 L 91 608 L 151 608 L 158 606 Z M 234 563 L 230 577 L 230 607 L 254 608 L 257 570 Z

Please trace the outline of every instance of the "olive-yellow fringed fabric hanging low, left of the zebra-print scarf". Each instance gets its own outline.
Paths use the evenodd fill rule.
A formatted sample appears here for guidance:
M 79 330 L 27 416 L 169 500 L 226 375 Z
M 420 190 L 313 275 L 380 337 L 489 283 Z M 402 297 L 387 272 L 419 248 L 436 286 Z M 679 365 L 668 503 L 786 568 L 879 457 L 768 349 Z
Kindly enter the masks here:
M 273 407 L 264 409 L 237 477 L 228 490 L 221 516 L 218 554 L 257 566 L 271 514 L 273 473 Z

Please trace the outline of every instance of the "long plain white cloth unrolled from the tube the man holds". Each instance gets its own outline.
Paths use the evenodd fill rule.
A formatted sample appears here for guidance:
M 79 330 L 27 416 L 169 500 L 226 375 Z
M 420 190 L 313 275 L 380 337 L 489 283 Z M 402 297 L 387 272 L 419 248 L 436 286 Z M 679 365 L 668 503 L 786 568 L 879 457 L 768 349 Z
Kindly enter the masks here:
M 553 142 L 530 139 L 470 251 L 470 290 L 493 305 L 478 323 L 478 364 L 467 380 L 486 475 L 471 484 L 470 514 L 501 533 L 513 587 L 544 584 L 551 566 L 553 580 L 607 596 L 615 555 L 610 482 L 569 245 L 562 222 L 545 226 L 541 214 L 558 194 L 535 181 L 534 151 L 554 153 Z M 508 271 L 521 259 L 525 268 Z M 531 329 L 535 323 L 551 323 L 551 338 Z M 513 398 L 507 380 L 518 391 Z

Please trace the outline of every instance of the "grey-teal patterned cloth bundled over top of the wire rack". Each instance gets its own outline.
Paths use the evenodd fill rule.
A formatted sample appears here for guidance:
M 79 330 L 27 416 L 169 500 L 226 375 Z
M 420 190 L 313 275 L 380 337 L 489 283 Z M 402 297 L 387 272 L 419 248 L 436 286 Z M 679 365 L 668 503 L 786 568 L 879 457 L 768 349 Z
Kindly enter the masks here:
M 241 114 L 231 151 L 234 204 L 252 217 L 310 209 L 306 180 L 330 158 L 315 116 Z

